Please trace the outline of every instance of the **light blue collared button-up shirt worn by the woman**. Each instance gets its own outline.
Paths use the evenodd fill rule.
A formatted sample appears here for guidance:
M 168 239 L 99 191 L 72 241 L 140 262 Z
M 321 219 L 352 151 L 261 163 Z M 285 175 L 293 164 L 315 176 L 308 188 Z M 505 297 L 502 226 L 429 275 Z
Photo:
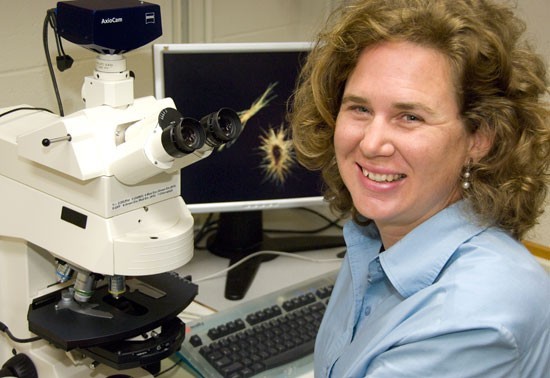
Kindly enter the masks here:
M 382 253 L 374 224 L 346 224 L 346 258 L 315 345 L 317 378 L 550 377 L 550 277 L 465 207 L 441 211 Z

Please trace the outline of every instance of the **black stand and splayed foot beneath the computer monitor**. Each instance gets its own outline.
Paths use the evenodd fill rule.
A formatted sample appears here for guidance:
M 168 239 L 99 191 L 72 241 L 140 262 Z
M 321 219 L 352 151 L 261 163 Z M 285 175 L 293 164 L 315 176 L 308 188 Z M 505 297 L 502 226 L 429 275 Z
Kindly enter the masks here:
M 261 211 L 220 213 L 218 230 L 207 241 L 210 252 L 229 259 L 229 265 L 258 251 L 301 252 L 344 246 L 342 236 L 290 236 L 272 238 L 263 231 Z M 242 299 L 260 264 L 276 255 L 257 256 L 227 273 L 225 298 Z

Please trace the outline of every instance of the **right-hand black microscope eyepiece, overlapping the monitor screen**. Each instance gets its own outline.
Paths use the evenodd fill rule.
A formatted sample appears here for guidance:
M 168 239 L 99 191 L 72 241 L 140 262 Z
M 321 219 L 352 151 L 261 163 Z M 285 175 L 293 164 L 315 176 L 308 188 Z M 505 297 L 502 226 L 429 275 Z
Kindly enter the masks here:
M 229 108 L 221 108 L 203 117 L 200 123 L 206 130 L 206 144 L 210 147 L 237 139 L 242 131 L 239 115 Z

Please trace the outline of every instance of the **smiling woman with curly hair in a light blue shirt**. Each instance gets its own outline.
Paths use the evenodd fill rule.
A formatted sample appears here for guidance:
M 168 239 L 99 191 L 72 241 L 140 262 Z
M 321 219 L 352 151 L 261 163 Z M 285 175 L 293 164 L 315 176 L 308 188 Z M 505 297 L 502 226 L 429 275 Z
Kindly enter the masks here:
M 317 377 L 543 377 L 550 279 L 519 240 L 544 208 L 544 62 L 501 2 L 346 2 L 290 114 L 350 213 Z

